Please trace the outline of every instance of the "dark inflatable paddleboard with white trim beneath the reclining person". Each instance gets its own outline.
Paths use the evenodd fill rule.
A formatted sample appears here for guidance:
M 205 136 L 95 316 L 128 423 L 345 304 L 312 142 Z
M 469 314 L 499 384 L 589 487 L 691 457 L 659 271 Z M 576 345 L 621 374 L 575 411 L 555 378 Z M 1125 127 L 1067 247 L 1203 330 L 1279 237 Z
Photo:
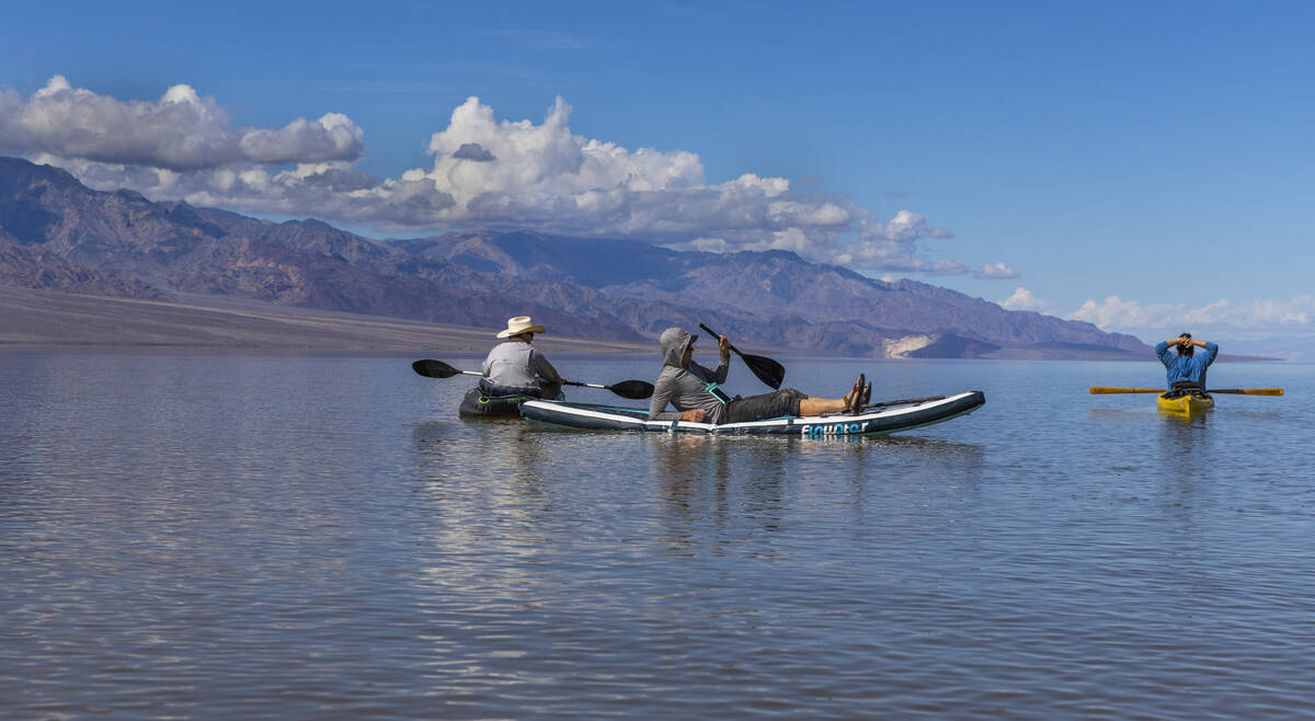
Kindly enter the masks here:
M 647 408 L 618 408 L 586 403 L 564 403 L 531 399 L 521 404 L 521 416 L 530 421 L 588 430 L 648 430 L 664 433 L 707 433 L 715 435 L 801 435 L 834 438 L 843 435 L 885 435 L 924 425 L 939 424 L 972 413 L 986 403 L 981 391 L 964 391 L 955 396 L 897 400 L 872 404 L 863 413 L 849 416 L 782 416 L 740 424 L 697 424 L 693 421 L 650 421 Z

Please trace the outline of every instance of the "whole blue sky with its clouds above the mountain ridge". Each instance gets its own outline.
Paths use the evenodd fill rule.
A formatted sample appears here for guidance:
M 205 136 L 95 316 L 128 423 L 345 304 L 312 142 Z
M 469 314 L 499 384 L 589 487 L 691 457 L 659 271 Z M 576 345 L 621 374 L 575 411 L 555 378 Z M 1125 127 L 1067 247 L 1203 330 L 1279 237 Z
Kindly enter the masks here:
M 0 153 L 380 237 L 788 247 L 1307 357 L 1312 28 L 1304 3 L 12 4 Z

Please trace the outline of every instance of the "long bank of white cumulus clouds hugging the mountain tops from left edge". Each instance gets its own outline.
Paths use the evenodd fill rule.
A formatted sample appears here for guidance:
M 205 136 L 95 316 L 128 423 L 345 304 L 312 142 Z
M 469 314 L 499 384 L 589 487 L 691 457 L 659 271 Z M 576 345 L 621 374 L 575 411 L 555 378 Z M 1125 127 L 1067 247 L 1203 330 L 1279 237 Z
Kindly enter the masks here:
M 844 195 L 800 192 L 784 178 L 709 183 L 694 153 L 577 136 L 569 116 L 558 97 L 542 122 L 500 120 L 471 97 L 430 137 L 429 167 L 376 178 L 356 166 L 364 133 L 341 113 L 237 128 L 213 97 L 185 84 L 155 101 L 124 101 L 55 76 L 28 99 L 0 88 L 0 151 L 64 167 L 100 189 L 383 232 L 523 228 L 668 247 L 782 249 L 864 271 L 969 272 L 960 261 L 928 257 L 923 241 L 955 236 L 919 213 L 880 220 Z M 1016 278 L 1003 263 L 978 274 Z

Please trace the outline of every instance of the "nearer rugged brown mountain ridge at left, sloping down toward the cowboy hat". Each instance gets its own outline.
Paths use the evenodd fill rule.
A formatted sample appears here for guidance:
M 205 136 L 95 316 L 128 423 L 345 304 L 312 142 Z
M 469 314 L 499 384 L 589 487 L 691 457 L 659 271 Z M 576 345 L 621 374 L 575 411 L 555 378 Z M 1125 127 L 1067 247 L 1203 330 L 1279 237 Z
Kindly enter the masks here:
M 70 276 L 58 284 L 68 292 L 116 295 L 105 287 L 120 279 L 126 289 L 117 295 L 128 297 L 214 295 L 485 328 L 530 313 L 565 334 L 639 338 L 619 324 L 526 304 L 501 283 L 456 288 L 401 272 L 408 254 L 323 224 L 272 224 L 92 191 L 63 170 L 17 158 L 0 158 L 0 228 L 20 249 L 0 279 L 30 275 L 14 270 L 20 257 L 41 258 L 50 274 Z

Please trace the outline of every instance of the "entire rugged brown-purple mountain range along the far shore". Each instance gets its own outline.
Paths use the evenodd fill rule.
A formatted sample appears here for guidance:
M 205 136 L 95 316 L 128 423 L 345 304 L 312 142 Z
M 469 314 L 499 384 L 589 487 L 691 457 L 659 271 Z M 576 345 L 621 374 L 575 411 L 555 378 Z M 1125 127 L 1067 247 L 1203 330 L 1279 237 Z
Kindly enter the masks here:
M 860 357 L 1145 358 L 1091 324 L 780 250 L 684 253 L 635 241 L 479 230 L 373 239 L 274 222 L 0 158 L 0 286 L 125 299 L 204 296 L 642 341 L 705 322 L 739 345 Z

